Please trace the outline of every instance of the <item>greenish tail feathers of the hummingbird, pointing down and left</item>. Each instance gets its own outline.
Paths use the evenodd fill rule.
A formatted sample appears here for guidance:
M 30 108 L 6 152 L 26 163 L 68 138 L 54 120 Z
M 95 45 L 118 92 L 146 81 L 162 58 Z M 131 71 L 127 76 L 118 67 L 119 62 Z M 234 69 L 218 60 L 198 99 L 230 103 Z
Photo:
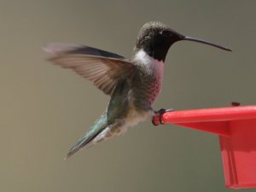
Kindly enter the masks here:
M 79 142 L 73 145 L 67 154 L 67 158 L 78 152 L 82 148 L 89 147 L 93 144 L 92 141 L 96 138 L 105 128 L 108 127 L 107 112 L 102 113 L 102 115 L 96 119 L 96 122 L 90 126 L 89 130 L 86 132 L 84 137 L 79 139 Z

